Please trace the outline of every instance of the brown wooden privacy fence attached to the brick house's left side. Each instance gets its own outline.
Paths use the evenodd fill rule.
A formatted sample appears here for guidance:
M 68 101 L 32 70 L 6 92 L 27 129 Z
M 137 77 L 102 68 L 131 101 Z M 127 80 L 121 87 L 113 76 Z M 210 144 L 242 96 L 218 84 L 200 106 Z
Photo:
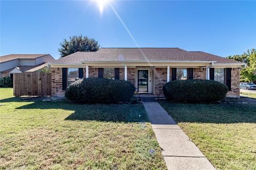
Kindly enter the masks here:
M 51 96 L 51 73 L 15 73 L 14 96 Z

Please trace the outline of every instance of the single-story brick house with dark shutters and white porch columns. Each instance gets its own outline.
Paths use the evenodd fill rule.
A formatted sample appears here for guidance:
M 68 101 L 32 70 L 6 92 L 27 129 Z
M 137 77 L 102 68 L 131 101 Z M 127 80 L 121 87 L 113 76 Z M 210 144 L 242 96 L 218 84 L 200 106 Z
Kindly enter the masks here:
M 244 63 L 180 48 L 101 48 L 76 52 L 50 65 L 53 96 L 64 95 L 79 78 L 109 78 L 130 81 L 137 91 L 155 95 L 163 95 L 169 81 L 211 79 L 228 86 L 227 96 L 238 97 Z

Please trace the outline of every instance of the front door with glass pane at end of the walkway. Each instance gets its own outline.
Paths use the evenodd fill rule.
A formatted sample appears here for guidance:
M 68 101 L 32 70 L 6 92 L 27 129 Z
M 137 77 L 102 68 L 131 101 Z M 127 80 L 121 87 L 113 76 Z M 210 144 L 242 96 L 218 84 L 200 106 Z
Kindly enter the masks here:
M 148 92 L 148 70 L 138 70 L 138 92 Z

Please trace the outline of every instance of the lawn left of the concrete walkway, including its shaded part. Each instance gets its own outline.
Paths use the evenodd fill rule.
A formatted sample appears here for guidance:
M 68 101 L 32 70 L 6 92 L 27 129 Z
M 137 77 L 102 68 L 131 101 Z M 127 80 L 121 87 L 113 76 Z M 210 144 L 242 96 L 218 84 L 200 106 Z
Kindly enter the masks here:
M 166 169 L 140 104 L 0 98 L 0 169 Z

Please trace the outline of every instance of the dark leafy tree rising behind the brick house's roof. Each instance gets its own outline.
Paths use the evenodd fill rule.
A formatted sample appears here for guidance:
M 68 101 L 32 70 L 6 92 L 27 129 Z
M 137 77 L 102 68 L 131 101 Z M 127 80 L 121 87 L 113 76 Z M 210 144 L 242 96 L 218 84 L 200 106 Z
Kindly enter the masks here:
M 60 43 L 60 46 L 59 52 L 61 57 L 65 57 L 79 51 L 97 51 L 100 48 L 98 41 L 82 35 L 69 37 L 69 40 L 64 39 L 63 42 Z

